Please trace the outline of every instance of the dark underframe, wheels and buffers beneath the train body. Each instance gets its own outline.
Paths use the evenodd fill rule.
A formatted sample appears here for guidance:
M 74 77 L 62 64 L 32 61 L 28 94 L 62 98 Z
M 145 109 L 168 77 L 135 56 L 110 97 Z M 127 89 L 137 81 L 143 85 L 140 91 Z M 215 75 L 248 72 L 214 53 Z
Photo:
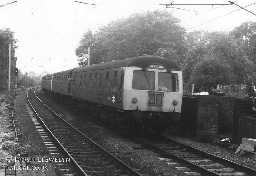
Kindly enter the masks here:
M 173 119 L 173 113 L 170 112 L 124 111 L 58 94 L 47 89 L 44 89 L 44 93 L 82 114 L 98 118 L 110 124 L 113 128 L 121 128 L 129 131 L 131 134 L 141 135 L 145 131 L 161 134 L 173 121 L 171 120 Z M 179 116 L 179 114 L 176 114 L 176 116 Z

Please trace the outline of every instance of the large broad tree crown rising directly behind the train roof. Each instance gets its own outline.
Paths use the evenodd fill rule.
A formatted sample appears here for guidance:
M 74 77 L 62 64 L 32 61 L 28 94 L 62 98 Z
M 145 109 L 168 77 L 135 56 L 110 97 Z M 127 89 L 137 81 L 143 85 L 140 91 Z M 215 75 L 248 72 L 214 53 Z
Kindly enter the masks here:
M 88 47 L 92 64 L 135 56 L 160 55 L 181 64 L 186 53 L 184 29 L 167 11 L 137 13 L 110 22 L 94 34 L 89 30 L 76 48 L 79 65 L 86 65 Z

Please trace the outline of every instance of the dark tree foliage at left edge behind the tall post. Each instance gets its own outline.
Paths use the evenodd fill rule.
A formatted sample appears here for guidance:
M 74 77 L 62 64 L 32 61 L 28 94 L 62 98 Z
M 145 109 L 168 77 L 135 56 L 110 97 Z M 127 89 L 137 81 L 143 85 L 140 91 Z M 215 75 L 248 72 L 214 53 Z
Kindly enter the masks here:
M 14 75 L 16 66 L 15 49 L 17 40 L 10 29 L 0 30 L 0 91 L 8 89 L 9 44 L 11 44 L 11 76 Z

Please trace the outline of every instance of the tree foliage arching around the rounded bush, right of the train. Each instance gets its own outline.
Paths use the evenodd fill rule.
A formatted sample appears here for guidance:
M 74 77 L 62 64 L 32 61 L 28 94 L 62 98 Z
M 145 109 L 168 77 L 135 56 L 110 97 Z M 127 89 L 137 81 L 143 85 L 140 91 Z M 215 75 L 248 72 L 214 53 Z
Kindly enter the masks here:
M 194 31 L 188 33 L 187 43 L 188 53 L 183 63 L 185 82 L 191 80 L 195 65 L 212 53 L 220 54 L 222 60 L 232 68 L 233 71 L 230 72 L 232 82 L 243 84 L 246 74 L 251 74 L 256 79 L 255 64 L 250 60 L 245 48 L 241 46 L 233 33 Z M 224 83 L 222 82 L 222 84 Z

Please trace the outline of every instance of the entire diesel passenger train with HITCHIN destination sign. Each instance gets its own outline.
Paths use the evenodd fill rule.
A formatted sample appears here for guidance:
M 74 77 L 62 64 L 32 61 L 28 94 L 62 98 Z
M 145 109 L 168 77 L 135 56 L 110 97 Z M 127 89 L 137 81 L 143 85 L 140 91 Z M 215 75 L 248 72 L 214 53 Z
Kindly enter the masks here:
M 139 56 L 47 74 L 42 90 L 134 134 L 161 134 L 181 119 L 182 70 L 162 57 Z

